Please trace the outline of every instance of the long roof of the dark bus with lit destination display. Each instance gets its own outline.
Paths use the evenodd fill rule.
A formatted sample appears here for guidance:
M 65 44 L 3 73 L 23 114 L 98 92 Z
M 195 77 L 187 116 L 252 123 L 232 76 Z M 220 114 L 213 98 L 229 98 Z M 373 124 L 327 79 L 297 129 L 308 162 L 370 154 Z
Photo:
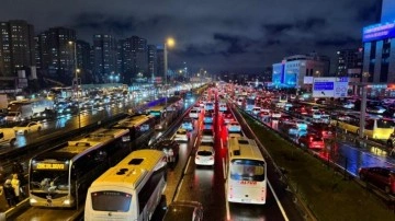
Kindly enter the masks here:
M 99 130 L 89 133 L 82 139 L 68 141 L 67 144 L 55 151 L 46 151 L 34 156 L 35 160 L 58 160 L 66 161 L 71 160 L 76 161 L 81 155 L 89 153 L 103 144 L 112 141 L 115 138 L 127 135 L 128 130 L 126 129 L 105 129 L 101 128 Z

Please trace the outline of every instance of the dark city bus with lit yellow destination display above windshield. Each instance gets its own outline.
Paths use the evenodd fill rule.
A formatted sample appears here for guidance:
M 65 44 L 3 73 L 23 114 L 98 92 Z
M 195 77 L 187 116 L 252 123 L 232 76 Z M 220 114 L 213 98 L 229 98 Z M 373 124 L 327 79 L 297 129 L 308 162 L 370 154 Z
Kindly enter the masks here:
M 104 129 L 30 160 L 30 205 L 79 208 L 89 185 L 129 153 L 128 130 Z

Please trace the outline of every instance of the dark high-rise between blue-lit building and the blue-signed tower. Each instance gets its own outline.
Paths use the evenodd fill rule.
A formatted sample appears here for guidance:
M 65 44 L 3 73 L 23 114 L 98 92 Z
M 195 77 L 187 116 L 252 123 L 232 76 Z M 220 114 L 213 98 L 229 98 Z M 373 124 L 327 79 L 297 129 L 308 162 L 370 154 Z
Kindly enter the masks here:
M 363 48 L 338 50 L 338 67 L 336 75 L 361 78 L 362 51 Z

